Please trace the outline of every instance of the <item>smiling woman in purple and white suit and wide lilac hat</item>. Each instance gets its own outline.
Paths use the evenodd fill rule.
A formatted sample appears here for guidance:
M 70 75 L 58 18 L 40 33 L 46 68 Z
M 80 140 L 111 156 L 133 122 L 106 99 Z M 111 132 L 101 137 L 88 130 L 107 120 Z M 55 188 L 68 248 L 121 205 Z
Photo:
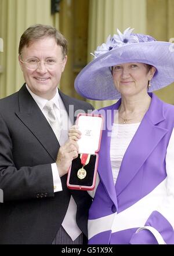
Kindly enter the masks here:
M 174 244 L 174 107 L 152 93 L 174 81 L 173 45 L 117 31 L 75 80 L 85 98 L 119 99 L 96 111 L 104 129 L 89 244 Z

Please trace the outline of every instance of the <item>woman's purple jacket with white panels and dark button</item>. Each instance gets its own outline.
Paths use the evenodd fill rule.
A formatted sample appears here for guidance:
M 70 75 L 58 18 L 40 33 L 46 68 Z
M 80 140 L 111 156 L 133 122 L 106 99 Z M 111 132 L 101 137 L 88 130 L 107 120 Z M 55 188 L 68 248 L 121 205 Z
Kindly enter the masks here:
M 100 182 L 89 210 L 89 244 L 174 244 L 174 107 L 153 93 L 121 163 L 114 186 L 110 161 L 114 110 L 102 109 Z

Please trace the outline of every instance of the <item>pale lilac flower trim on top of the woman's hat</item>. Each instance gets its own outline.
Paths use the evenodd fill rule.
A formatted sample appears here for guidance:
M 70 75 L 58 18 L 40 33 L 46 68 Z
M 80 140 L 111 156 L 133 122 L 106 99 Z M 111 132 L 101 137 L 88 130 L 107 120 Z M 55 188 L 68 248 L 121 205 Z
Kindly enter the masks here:
M 143 34 L 133 34 L 132 31 L 134 28 L 126 28 L 124 33 L 121 33 L 117 28 L 118 35 L 114 34 L 113 37 L 111 35 L 108 36 L 106 43 L 97 46 L 97 49 L 94 53 L 90 53 L 93 55 L 94 59 L 103 55 L 106 52 L 109 52 L 117 47 L 121 47 L 127 44 L 134 44 L 138 42 L 150 42 L 156 41 L 150 35 L 143 35 Z

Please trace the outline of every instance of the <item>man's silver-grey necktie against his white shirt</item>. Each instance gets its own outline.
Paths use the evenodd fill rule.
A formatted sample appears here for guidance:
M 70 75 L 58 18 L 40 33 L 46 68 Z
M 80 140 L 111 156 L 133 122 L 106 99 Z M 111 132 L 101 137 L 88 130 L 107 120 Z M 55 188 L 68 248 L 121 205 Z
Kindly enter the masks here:
M 55 132 L 57 140 L 60 139 L 61 135 L 61 124 L 59 119 L 56 116 L 56 111 L 54 109 L 54 102 L 49 100 L 45 106 L 44 109 L 46 110 L 46 116 L 48 118 L 49 124 L 53 129 L 53 132 Z

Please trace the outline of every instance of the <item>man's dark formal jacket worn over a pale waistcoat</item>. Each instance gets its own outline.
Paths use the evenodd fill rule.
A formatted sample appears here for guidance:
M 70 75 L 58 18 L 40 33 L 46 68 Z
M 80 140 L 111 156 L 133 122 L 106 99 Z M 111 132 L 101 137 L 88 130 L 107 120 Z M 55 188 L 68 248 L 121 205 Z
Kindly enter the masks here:
M 92 109 L 89 103 L 60 92 L 68 111 Z M 71 120 L 73 121 L 73 120 Z M 73 121 L 74 122 L 74 121 Z M 53 192 L 51 164 L 59 142 L 25 84 L 0 100 L 0 244 L 52 244 L 67 211 L 71 194 L 77 203 L 77 223 L 87 236 L 90 197 L 85 191 Z

